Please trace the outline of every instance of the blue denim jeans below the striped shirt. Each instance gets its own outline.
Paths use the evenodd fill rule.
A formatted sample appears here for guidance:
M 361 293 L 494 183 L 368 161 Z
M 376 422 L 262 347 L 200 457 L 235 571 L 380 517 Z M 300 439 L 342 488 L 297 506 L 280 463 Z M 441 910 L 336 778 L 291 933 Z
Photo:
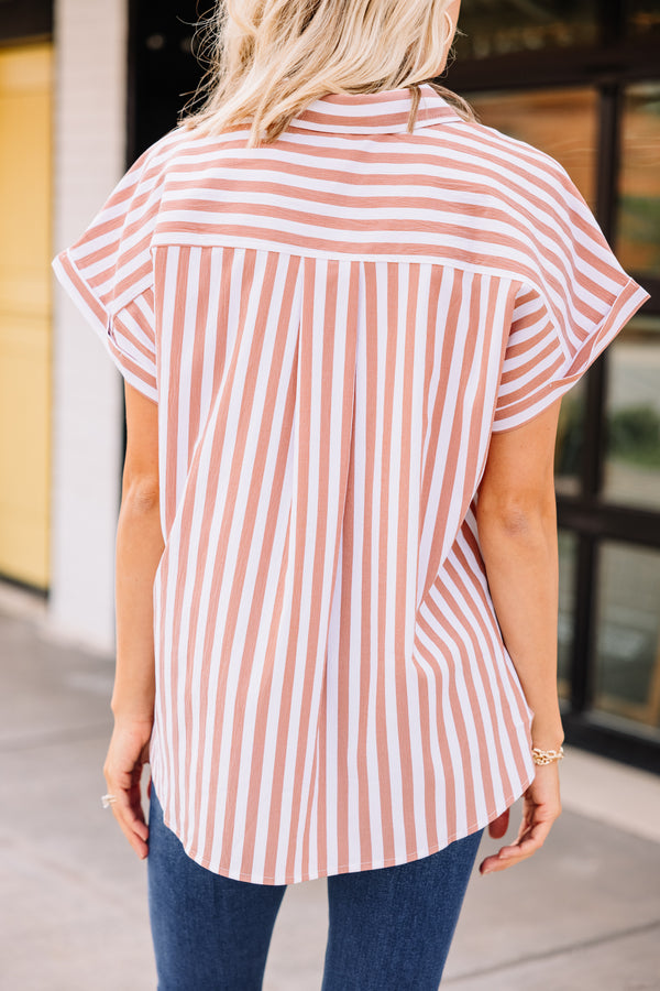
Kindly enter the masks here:
M 258 991 L 286 884 L 209 871 L 151 789 L 148 911 L 158 991 Z M 409 863 L 328 878 L 321 991 L 437 991 L 483 829 Z

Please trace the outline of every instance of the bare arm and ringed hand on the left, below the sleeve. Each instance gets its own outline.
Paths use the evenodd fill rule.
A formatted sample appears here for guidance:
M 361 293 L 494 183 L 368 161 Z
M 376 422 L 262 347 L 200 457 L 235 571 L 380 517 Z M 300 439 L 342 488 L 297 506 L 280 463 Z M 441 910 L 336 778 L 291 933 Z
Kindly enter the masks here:
M 140 780 L 154 720 L 153 585 L 164 543 L 158 489 L 158 407 L 125 383 L 127 454 L 117 527 L 114 729 L 103 764 L 114 817 L 144 859 L 148 827 Z

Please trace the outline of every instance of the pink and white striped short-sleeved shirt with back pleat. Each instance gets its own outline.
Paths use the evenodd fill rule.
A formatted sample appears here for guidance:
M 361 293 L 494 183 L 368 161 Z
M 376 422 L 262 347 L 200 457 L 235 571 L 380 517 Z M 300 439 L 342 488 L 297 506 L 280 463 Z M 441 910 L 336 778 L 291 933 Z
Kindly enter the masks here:
M 151 772 L 198 863 L 425 857 L 534 778 L 480 554 L 493 431 L 647 298 L 566 173 L 425 84 L 177 128 L 54 268 L 158 404 Z

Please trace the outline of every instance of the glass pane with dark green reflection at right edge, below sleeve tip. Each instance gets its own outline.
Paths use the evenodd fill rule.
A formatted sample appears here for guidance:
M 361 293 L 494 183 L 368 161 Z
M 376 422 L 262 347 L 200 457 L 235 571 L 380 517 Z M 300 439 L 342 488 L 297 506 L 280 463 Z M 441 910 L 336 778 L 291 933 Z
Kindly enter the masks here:
M 660 317 L 637 316 L 609 348 L 604 498 L 660 509 Z

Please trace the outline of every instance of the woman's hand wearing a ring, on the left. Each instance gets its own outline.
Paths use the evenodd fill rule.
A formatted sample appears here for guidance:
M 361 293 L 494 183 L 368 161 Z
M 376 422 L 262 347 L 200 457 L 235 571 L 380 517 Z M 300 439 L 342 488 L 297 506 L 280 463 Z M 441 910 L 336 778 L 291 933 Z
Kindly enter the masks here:
M 153 720 L 116 717 L 103 764 L 108 792 L 117 795 L 117 802 L 112 803 L 114 818 L 142 860 L 148 853 L 148 826 L 142 808 L 140 781 L 142 766 L 148 761 L 152 727 Z

